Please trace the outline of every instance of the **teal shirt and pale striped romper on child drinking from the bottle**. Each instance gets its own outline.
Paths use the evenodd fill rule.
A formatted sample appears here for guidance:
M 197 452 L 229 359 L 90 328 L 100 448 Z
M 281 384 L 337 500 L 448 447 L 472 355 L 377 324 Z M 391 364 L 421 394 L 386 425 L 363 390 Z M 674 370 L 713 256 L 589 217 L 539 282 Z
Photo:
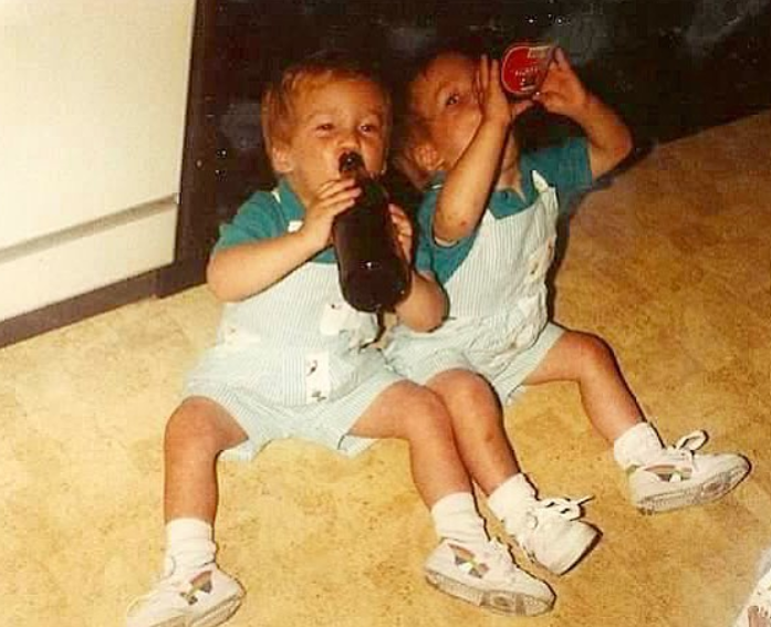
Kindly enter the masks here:
M 215 250 L 294 231 L 303 215 L 281 180 L 239 209 Z M 249 438 L 229 451 L 236 457 L 249 459 L 290 437 L 355 454 L 372 440 L 348 431 L 379 393 L 403 380 L 372 345 L 377 331 L 374 314 L 343 301 L 327 249 L 267 290 L 225 305 L 216 345 L 184 394 L 218 403 L 243 428 Z

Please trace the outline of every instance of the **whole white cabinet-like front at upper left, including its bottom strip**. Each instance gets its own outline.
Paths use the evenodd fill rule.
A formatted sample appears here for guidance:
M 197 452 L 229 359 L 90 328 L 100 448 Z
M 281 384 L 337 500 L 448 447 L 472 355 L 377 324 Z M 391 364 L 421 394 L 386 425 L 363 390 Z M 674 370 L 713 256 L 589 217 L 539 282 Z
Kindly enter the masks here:
M 61 248 L 102 229 L 110 239 L 125 227 L 111 217 L 146 220 L 178 192 L 194 9 L 195 0 L 0 0 L 0 320 L 171 261 L 166 219 L 143 242 L 155 243 L 138 247 L 146 259 L 136 242 L 118 244 L 113 270 L 88 269 L 72 294 L 52 301 L 54 285 L 37 275 L 25 302 L 1 295 L 29 281 L 21 271 L 48 238 Z M 95 261 L 88 247 L 67 248 L 60 263 L 75 274 Z

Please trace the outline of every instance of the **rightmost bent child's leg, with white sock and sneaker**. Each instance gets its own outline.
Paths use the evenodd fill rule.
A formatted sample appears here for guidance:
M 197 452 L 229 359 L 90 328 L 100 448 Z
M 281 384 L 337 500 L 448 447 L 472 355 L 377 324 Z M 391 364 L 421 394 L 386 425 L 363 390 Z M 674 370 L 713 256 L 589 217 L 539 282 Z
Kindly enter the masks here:
M 613 443 L 616 462 L 629 473 L 632 500 L 646 513 L 713 501 L 749 472 L 749 463 L 740 456 L 696 454 L 706 440 L 700 432 L 664 448 L 611 348 L 594 335 L 566 331 L 524 385 L 553 380 L 579 384 L 590 420 Z

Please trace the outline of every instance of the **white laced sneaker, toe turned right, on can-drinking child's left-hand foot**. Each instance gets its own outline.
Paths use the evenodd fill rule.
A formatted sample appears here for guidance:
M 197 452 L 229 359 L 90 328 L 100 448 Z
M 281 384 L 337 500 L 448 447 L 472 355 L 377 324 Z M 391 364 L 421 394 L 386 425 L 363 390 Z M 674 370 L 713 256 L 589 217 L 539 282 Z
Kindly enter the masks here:
M 524 553 L 556 575 L 566 573 L 600 540 L 600 531 L 579 520 L 583 499 L 544 499 L 528 510 L 525 529 L 512 537 Z

